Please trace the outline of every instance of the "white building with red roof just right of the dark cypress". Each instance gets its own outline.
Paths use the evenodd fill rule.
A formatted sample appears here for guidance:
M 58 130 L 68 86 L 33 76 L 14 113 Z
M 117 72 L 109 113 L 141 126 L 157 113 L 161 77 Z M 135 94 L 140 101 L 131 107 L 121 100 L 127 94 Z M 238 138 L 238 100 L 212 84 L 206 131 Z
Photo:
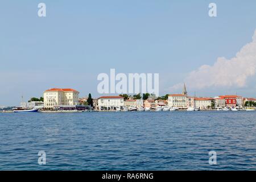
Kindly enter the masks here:
M 98 98 L 99 109 L 115 110 L 117 107 L 123 107 L 124 101 L 121 96 L 102 96 Z

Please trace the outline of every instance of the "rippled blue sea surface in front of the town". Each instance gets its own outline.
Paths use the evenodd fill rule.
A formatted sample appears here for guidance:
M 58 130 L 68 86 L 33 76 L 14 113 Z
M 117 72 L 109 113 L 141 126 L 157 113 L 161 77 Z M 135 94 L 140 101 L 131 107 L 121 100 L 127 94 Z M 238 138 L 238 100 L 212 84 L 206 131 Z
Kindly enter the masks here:
M 256 170 L 255 118 L 256 111 L 0 113 L 0 169 Z

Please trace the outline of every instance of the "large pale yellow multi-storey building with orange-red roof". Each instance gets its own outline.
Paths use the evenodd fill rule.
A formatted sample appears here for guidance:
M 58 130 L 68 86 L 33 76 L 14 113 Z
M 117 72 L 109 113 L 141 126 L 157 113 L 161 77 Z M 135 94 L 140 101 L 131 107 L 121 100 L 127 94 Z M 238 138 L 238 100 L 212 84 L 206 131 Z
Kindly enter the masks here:
M 53 88 L 44 91 L 44 107 L 79 104 L 79 92 L 74 89 Z

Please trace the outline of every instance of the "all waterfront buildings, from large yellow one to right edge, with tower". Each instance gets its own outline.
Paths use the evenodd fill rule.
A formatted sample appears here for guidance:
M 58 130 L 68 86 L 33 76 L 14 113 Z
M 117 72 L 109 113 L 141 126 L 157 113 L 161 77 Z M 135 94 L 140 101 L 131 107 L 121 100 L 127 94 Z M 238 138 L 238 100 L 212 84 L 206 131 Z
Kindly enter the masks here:
M 79 92 L 75 89 L 48 89 L 44 92 L 44 108 L 52 109 L 56 106 L 72 106 L 82 105 L 87 97 L 79 98 Z M 187 94 L 187 89 L 184 84 L 183 92 L 181 94 L 170 94 L 167 100 L 155 100 L 149 98 L 148 100 L 135 100 L 129 98 L 125 100 L 121 96 L 102 96 L 93 99 L 94 109 L 116 109 L 117 107 L 157 107 L 168 106 L 185 109 L 188 107 L 199 107 L 200 109 L 209 109 L 215 107 L 242 107 L 246 101 L 254 101 L 255 98 L 243 98 L 241 96 L 218 96 L 218 97 L 191 97 Z

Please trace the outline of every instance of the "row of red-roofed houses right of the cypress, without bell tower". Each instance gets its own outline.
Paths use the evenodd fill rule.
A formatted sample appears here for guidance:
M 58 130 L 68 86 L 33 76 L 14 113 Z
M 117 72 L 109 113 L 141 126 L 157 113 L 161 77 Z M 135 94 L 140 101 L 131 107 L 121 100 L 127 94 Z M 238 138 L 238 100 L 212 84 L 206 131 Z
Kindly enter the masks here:
M 243 98 L 241 96 L 219 96 L 219 97 L 189 97 L 184 94 L 170 94 L 168 100 L 124 100 L 120 96 L 104 96 L 96 100 L 94 108 L 96 109 L 115 109 L 117 107 L 148 107 L 157 106 L 176 107 L 179 109 L 187 109 L 188 107 L 196 107 L 201 110 L 211 109 L 212 107 L 243 107 L 246 101 L 256 102 L 255 98 Z

